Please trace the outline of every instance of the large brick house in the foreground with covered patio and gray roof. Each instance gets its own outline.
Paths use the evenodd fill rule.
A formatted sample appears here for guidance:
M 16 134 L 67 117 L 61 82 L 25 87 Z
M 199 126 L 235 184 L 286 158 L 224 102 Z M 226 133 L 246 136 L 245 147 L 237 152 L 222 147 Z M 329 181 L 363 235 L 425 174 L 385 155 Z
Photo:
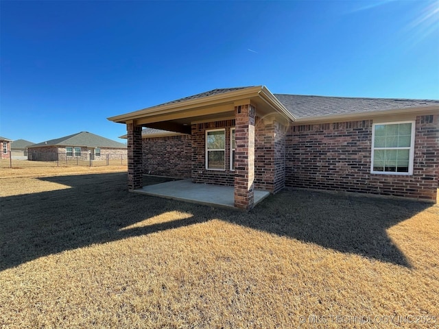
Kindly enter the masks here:
M 438 100 L 280 95 L 254 86 L 108 119 L 127 125 L 130 190 L 152 173 L 234 186 L 239 208 L 252 208 L 254 188 L 285 187 L 436 202 Z

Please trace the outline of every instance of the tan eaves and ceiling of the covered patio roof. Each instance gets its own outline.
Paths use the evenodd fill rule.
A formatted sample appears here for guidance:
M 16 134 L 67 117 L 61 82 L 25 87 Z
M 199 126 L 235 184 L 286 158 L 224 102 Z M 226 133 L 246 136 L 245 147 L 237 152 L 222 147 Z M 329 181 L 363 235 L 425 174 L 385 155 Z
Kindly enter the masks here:
M 294 121 L 293 115 L 265 86 L 233 90 L 217 95 L 165 103 L 110 117 L 117 123 L 134 123 L 143 127 L 191 134 L 191 124 L 235 119 L 235 106 L 251 103 L 260 117 L 274 115 Z

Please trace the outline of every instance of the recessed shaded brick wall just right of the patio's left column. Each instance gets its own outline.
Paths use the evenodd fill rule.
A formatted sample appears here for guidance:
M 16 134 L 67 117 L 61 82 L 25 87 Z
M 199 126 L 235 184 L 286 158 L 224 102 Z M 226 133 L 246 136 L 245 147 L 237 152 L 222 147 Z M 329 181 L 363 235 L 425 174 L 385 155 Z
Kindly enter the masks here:
M 143 173 L 191 178 L 191 136 L 143 138 L 142 160 Z

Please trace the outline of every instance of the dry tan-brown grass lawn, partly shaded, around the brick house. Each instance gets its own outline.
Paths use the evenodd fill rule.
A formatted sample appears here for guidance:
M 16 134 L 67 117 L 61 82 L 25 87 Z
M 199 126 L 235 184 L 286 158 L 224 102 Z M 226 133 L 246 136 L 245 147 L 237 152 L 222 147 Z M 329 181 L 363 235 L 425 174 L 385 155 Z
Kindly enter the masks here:
M 439 323 L 438 206 L 283 191 L 243 213 L 128 193 L 126 173 L 5 170 L 3 328 Z

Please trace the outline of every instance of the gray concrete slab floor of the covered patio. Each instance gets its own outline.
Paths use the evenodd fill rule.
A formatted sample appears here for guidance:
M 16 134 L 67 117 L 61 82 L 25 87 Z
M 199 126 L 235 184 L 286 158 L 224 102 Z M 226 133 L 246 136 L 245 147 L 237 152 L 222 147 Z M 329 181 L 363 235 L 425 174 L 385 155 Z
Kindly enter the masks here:
M 134 193 L 166 197 L 207 206 L 235 208 L 235 191 L 233 186 L 195 184 L 191 180 L 175 180 L 155 185 L 143 186 Z M 254 206 L 268 197 L 268 191 L 254 191 Z

